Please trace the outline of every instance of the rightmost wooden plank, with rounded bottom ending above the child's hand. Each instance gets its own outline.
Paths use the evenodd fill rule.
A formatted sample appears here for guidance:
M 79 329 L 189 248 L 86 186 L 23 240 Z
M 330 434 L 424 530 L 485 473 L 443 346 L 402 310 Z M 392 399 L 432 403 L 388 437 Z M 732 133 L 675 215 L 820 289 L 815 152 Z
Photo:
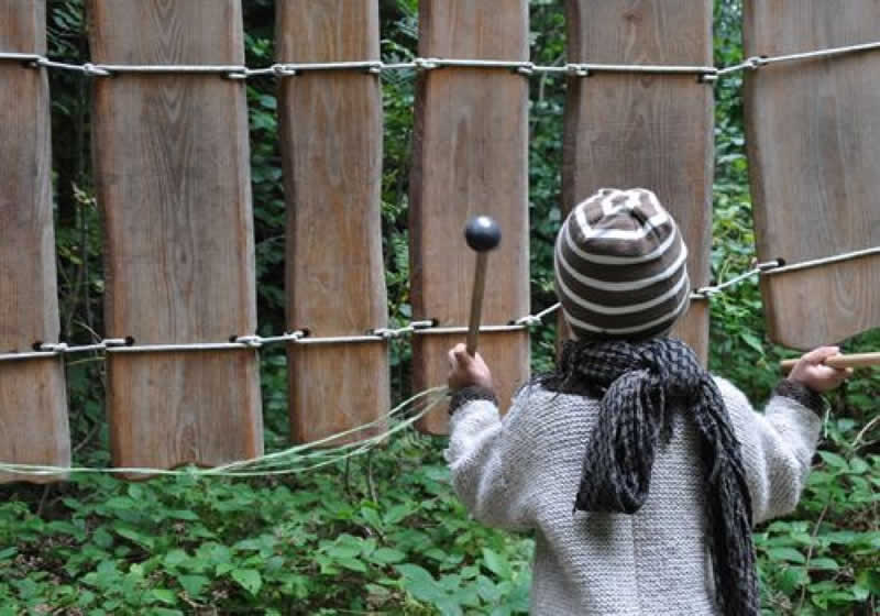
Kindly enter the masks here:
M 749 0 L 746 55 L 876 41 L 877 0 Z M 788 263 L 880 245 L 880 53 L 746 75 L 758 258 Z M 810 349 L 880 327 L 880 256 L 765 276 L 770 338 Z

